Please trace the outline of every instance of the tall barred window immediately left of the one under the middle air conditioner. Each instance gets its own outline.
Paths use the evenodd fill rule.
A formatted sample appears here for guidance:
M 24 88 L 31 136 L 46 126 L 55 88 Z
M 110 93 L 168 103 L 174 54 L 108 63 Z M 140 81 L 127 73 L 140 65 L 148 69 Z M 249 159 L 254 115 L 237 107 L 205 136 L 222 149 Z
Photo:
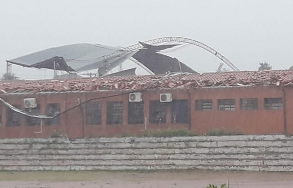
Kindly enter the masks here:
M 107 102 L 107 124 L 123 123 L 123 102 Z

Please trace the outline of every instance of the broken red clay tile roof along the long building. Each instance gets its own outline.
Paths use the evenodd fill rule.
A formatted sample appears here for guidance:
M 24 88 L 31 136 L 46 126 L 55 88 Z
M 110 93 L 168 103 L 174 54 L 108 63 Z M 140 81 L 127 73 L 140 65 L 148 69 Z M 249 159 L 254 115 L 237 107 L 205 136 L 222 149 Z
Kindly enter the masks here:
M 290 85 L 293 70 L 213 72 L 202 74 L 141 75 L 66 80 L 0 82 L 0 93 L 140 90 L 146 88 L 198 88 L 243 85 Z

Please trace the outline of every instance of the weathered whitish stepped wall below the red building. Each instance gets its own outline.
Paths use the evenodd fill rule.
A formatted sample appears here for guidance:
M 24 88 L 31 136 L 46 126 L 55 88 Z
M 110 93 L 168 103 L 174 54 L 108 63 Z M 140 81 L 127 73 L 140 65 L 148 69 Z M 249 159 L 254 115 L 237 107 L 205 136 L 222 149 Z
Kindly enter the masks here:
M 2 139 L 0 170 L 293 171 L 293 137 Z

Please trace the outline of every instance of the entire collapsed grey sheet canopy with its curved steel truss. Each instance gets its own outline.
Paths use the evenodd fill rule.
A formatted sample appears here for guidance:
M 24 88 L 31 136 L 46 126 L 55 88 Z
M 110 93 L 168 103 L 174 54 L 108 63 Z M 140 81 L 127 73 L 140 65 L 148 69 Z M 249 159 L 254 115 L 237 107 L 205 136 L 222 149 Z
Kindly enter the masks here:
M 104 76 L 129 59 L 150 74 L 162 74 L 166 72 L 196 73 L 195 70 L 180 62 L 178 59 L 162 54 L 164 50 L 180 47 L 182 43 L 206 49 L 230 66 L 233 71 L 239 71 L 234 64 L 215 49 L 201 42 L 182 37 L 158 38 L 139 42 L 126 48 L 100 44 L 73 44 L 52 47 L 7 60 L 7 63 L 27 68 L 67 71 L 69 73 L 98 69 L 98 75 Z M 126 71 L 124 74 L 127 72 L 133 73 L 133 71 Z

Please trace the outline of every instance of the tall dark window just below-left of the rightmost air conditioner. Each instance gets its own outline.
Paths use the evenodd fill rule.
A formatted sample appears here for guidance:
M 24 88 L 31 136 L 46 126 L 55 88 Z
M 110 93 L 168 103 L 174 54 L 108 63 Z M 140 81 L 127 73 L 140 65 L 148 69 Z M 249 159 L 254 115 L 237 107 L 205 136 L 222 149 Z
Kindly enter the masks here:
M 149 123 L 166 123 L 166 110 L 166 102 L 149 101 Z

